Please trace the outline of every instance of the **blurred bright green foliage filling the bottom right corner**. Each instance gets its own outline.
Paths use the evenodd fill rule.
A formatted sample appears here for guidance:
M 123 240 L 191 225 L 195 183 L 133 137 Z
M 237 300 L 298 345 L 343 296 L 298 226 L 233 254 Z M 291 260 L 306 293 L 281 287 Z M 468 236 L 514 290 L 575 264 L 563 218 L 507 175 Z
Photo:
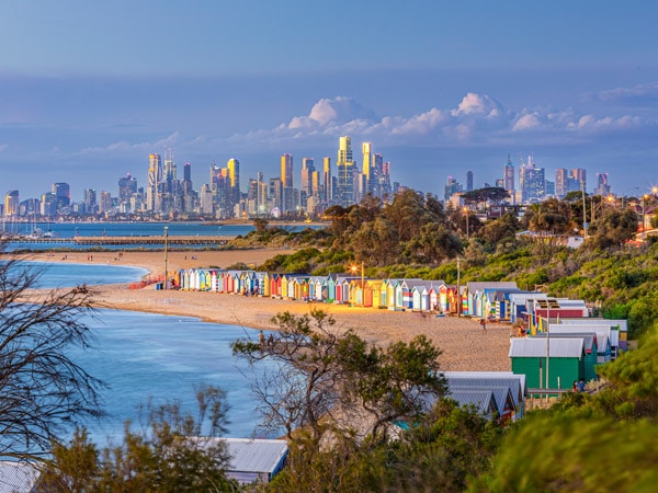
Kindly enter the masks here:
M 567 394 L 523 420 L 472 491 L 636 491 L 658 481 L 658 324 L 637 351 L 600 367 L 593 395 Z

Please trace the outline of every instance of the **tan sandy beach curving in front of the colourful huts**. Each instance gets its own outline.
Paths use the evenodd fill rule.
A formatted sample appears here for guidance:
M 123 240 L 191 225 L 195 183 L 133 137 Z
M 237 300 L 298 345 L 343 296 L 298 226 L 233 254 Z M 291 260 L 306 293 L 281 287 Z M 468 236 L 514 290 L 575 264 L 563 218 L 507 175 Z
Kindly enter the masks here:
M 236 251 L 186 251 L 169 252 L 169 271 L 190 267 L 226 268 L 237 263 L 260 265 L 283 250 L 236 250 Z M 66 255 L 66 260 L 63 260 Z M 145 267 L 152 275 L 164 270 L 163 252 L 93 252 L 93 261 L 88 252 L 66 254 L 36 253 L 23 256 L 41 262 L 104 263 Z M 227 324 L 240 324 L 254 329 L 275 329 L 271 319 L 280 312 L 308 313 L 319 308 L 330 313 L 338 330 L 354 329 L 363 339 L 387 344 L 395 341 L 408 342 L 418 334 L 424 334 L 439 346 L 444 370 L 510 370 L 509 334 L 507 324 L 488 324 L 483 333 L 477 320 L 443 317 L 412 312 L 395 312 L 373 308 L 348 307 L 344 305 L 305 303 L 260 297 L 224 295 L 218 293 L 195 293 L 178 290 L 129 289 L 128 285 L 94 286 L 94 305 L 99 308 L 148 311 L 173 316 L 197 317 L 200 319 Z

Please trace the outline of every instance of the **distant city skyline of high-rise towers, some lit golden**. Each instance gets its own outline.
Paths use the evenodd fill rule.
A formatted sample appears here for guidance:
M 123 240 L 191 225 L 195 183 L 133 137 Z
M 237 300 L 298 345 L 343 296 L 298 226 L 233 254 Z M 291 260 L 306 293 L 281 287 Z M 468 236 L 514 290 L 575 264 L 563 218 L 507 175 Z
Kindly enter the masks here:
M 358 147 L 359 149 L 359 147 Z M 110 191 L 97 193 L 84 188 L 79 202 L 71 202 L 69 184 L 53 183 L 52 190 L 39 197 L 20 200 L 19 191 L 11 190 L 0 203 L 4 217 L 66 215 L 115 216 L 172 219 L 185 218 L 252 218 L 252 217 L 319 217 L 331 206 L 350 207 L 371 196 L 383 203 L 393 199 L 400 190 L 398 182 L 392 183 L 390 162 L 377 152 L 373 142 L 360 144 L 361 156 L 354 156 L 352 138 L 338 139 L 336 162 L 330 157 L 317 160 L 305 157 L 300 169 L 295 170 L 294 157 L 284 152 L 279 158 L 280 175 L 265 177 L 263 172 L 240 180 L 240 161 L 230 158 L 226 167 L 215 162 L 209 165 L 206 183 L 195 191 L 192 183 L 192 164 L 183 165 L 182 176 L 178 173 L 173 151 L 164 148 L 162 154 L 148 154 L 145 163 L 145 184 L 140 187 L 137 176 L 129 172 L 117 177 L 116 195 Z M 319 164 L 321 163 L 321 164 Z M 295 174 L 297 176 L 295 176 Z M 472 170 L 465 172 L 465 186 L 453 175 L 447 176 L 443 198 L 447 206 L 457 207 L 463 194 L 477 188 Z M 555 181 L 547 180 L 544 168 L 538 167 L 533 156 L 514 165 L 508 154 L 502 177 L 495 186 L 504 188 L 510 205 L 529 205 L 547 197 L 564 198 L 570 192 L 585 192 L 587 171 L 581 168 L 558 168 Z M 242 184 L 245 187 L 242 188 Z M 295 186 L 297 185 L 297 186 Z M 488 187 L 488 183 L 479 187 Z M 597 195 L 610 195 L 608 173 L 597 173 Z

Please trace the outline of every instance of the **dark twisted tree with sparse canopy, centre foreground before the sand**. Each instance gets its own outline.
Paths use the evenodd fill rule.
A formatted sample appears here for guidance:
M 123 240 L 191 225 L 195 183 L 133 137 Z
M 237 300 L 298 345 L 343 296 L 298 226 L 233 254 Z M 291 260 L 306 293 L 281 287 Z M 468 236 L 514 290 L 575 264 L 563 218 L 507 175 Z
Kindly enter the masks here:
M 441 352 L 422 336 L 382 348 L 352 330 L 332 330 L 334 320 L 321 310 L 285 312 L 273 322 L 279 332 L 271 342 L 240 340 L 232 348 L 250 364 L 269 360 L 270 370 L 253 382 L 263 426 L 284 428 L 291 439 L 299 427 L 309 429 L 315 444 L 329 429 L 353 433 L 354 416 L 364 413 L 370 420 L 359 432 L 384 439 L 388 423 L 412 422 L 423 412 L 423 399 L 445 391 L 438 374 Z

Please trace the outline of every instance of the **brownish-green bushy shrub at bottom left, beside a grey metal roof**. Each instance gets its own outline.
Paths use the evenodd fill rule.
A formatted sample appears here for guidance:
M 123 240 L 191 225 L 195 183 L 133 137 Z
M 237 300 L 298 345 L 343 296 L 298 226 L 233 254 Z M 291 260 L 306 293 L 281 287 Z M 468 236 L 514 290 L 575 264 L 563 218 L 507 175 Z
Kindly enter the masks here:
M 225 432 L 225 392 L 195 388 L 197 415 L 180 402 L 146 405 L 147 421 L 134 432 L 126 423 L 124 440 L 99 451 L 84 429 L 68 446 L 56 445 L 42 474 L 46 491 L 236 491 L 226 477 L 230 457 L 217 437 Z

